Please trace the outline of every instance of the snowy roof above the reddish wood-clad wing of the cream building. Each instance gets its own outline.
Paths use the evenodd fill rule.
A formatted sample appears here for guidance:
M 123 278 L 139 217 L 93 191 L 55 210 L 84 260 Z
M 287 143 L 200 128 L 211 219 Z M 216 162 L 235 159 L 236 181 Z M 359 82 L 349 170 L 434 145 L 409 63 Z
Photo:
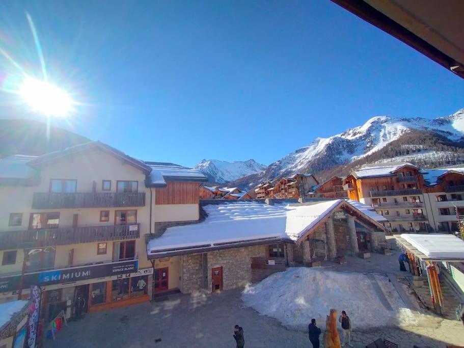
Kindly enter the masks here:
M 182 167 L 173 163 L 145 162 L 151 168 L 148 186 L 166 186 L 166 181 L 207 181 L 197 169 Z

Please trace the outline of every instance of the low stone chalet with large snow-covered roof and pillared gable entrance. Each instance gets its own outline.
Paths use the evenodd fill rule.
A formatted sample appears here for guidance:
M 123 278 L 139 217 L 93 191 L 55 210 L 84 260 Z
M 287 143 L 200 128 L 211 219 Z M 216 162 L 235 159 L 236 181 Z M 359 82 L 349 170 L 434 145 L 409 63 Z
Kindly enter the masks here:
M 385 248 L 384 227 L 377 221 L 383 217 L 345 200 L 217 200 L 205 202 L 202 210 L 203 221 L 146 235 L 150 260 L 173 261 L 166 270 L 175 275 L 169 290 L 226 290 L 287 266 Z M 368 243 L 358 236 L 361 230 L 369 234 Z

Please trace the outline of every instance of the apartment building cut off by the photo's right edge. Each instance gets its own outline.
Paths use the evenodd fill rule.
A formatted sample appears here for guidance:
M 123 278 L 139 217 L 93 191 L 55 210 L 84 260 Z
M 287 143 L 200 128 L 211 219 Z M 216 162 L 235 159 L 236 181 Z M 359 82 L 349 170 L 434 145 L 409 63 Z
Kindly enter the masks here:
M 421 175 L 430 225 L 436 232 L 459 231 L 458 220 L 464 219 L 464 167 L 424 169 Z

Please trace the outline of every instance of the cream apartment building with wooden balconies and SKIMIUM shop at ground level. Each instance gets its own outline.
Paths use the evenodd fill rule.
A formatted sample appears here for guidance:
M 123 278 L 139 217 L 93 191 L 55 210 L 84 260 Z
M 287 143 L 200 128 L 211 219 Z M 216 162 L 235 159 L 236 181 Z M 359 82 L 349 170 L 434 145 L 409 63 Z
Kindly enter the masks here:
M 148 260 L 143 235 L 198 221 L 201 181 L 100 142 L 0 160 L 0 302 L 39 285 L 48 321 L 78 296 L 84 312 L 149 301 L 170 260 Z

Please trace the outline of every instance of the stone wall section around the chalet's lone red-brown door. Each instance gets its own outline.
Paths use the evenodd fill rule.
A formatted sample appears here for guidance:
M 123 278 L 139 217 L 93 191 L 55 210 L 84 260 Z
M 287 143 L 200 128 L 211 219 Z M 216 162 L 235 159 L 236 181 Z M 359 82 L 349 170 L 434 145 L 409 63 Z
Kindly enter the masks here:
M 208 253 L 208 284 L 211 268 L 223 267 L 223 289 L 233 289 L 251 282 L 251 257 L 267 257 L 267 245 L 234 248 Z M 211 286 L 208 291 L 211 291 Z

